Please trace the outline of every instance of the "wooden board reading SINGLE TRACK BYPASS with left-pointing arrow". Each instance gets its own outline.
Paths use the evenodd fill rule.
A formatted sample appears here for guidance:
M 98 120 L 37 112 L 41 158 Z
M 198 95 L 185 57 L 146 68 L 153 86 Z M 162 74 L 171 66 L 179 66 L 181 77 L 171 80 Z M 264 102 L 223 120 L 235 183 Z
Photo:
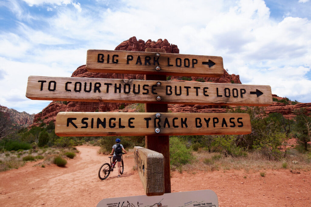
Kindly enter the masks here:
M 59 112 L 58 136 L 249 134 L 246 113 Z

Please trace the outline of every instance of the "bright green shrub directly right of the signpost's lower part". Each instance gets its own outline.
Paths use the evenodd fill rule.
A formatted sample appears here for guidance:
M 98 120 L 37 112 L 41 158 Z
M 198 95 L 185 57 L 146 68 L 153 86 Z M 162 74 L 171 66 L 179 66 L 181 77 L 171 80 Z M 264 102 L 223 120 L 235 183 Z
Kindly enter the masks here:
M 169 157 L 170 163 L 177 167 L 193 160 L 191 150 L 186 147 L 186 143 L 175 136 L 169 138 Z

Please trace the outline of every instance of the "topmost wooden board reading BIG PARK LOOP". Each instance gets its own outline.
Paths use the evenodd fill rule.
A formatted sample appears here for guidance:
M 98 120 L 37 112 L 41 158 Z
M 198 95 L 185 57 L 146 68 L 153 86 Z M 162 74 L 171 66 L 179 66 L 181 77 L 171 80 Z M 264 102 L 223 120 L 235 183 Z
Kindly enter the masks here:
M 158 70 L 156 67 L 159 67 Z M 222 57 L 174 53 L 88 50 L 86 69 L 97 73 L 220 77 Z

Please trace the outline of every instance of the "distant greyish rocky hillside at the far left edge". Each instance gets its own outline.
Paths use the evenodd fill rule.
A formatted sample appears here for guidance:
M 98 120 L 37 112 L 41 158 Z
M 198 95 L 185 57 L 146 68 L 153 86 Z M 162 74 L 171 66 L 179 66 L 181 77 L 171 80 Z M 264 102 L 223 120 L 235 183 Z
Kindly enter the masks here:
M 28 127 L 33 123 L 35 114 L 28 114 L 25 111 L 18 112 L 15 109 L 9 109 L 6 106 L 0 105 L 0 111 L 2 113 L 7 114 L 10 117 L 12 124 L 21 126 L 21 127 Z

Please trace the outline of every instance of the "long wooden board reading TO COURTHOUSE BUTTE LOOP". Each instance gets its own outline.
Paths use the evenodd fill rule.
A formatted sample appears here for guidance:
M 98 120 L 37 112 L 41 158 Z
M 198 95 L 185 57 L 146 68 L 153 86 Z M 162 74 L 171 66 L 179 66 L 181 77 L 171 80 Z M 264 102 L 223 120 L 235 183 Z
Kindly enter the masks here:
M 35 100 L 123 103 L 272 104 L 270 86 L 42 76 L 29 76 L 26 97 Z

